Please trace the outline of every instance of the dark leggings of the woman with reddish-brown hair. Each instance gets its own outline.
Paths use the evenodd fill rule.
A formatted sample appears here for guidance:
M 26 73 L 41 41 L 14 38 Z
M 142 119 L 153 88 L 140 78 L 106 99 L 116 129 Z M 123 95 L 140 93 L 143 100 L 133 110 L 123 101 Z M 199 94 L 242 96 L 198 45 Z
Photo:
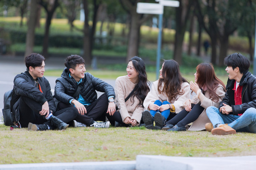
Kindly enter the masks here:
M 200 104 L 191 104 L 191 108 L 192 109 L 190 112 L 183 109 L 180 113 L 178 113 L 174 118 L 169 120 L 166 124 L 172 124 L 181 127 L 185 126 L 188 123 L 194 122 L 203 112 L 204 108 L 200 106 Z

